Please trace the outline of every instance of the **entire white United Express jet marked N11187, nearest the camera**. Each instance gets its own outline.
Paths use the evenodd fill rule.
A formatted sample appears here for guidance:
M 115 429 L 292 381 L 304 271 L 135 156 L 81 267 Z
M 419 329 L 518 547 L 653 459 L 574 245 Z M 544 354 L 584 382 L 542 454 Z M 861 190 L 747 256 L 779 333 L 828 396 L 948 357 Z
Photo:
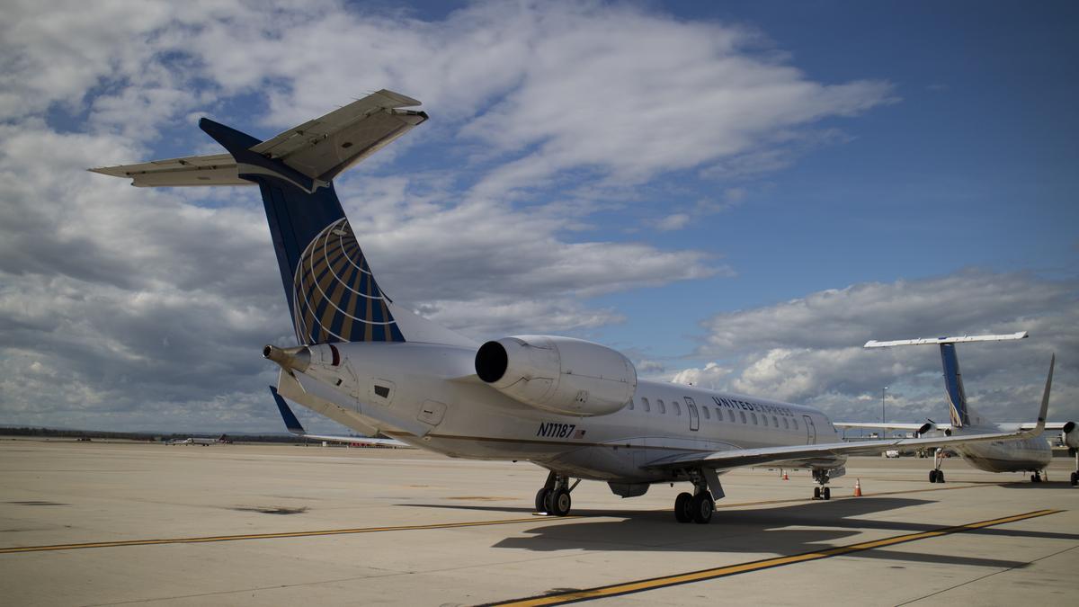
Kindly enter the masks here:
M 427 120 L 379 91 L 261 141 L 202 119 L 226 153 L 94 168 L 135 186 L 258 186 L 291 313 L 295 347 L 267 346 L 281 395 L 364 434 L 452 457 L 528 460 L 549 471 L 537 511 L 564 516 L 572 478 L 622 497 L 686 482 L 678 521 L 708 523 L 720 473 L 802 467 L 828 499 L 848 455 L 1038 435 L 1032 430 L 845 443 L 823 413 L 769 399 L 639 380 L 622 353 L 544 335 L 479 345 L 382 292 L 332 179 Z M 462 243 L 467 245 L 467 243 Z M 1052 364 L 1050 364 L 1052 379 Z

